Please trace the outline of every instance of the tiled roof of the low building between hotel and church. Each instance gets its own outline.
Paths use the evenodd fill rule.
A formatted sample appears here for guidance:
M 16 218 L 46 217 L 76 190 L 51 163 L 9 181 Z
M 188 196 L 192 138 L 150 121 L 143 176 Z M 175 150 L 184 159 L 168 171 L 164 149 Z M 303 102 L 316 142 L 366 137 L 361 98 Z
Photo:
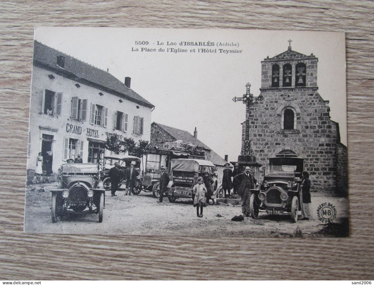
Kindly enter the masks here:
M 226 160 L 224 160 L 222 157 L 220 157 L 217 153 L 215 153 L 210 147 L 208 147 L 206 144 L 204 144 L 202 141 L 197 140 L 193 135 L 191 135 L 187 131 L 183 131 L 177 128 L 172 128 L 169 126 L 161 125 L 159 123 L 153 122 L 152 124 L 156 124 L 160 128 L 162 128 L 165 132 L 167 132 L 169 135 L 171 135 L 175 140 L 182 140 L 185 143 L 193 143 L 198 145 L 199 147 L 203 147 L 206 150 L 210 150 L 211 159 L 210 161 L 214 165 L 223 166 L 226 163 Z

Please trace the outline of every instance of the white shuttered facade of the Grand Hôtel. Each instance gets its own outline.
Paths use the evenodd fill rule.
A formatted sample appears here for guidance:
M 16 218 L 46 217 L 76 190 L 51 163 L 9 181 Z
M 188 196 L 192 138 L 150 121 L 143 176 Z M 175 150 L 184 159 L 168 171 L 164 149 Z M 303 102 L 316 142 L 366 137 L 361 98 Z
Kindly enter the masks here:
M 107 134 L 150 141 L 151 107 L 77 82 L 33 65 L 27 169 L 36 168 L 39 152 L 53 155 L 57 172 L 80 154 L 97 162 L 110 154 L 102 144 Z

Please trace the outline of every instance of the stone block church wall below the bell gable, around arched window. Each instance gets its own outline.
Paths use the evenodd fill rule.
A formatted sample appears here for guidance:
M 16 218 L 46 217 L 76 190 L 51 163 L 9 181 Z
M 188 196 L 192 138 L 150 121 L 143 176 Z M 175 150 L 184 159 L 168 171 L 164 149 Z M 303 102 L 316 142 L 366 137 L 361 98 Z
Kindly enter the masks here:
M 269 157 L 292 150 L 305 159 L 312 191 L 334 191 L 339 135 L 337 124 L 329 119 L 328 101 L 317 88 L 261 89 L 261 95 L 264 100 L 250 108 L 249 139 L 257 162 L 268 165 Z M 283 129 L 285 107 L 295 112 L 292 130 Z

